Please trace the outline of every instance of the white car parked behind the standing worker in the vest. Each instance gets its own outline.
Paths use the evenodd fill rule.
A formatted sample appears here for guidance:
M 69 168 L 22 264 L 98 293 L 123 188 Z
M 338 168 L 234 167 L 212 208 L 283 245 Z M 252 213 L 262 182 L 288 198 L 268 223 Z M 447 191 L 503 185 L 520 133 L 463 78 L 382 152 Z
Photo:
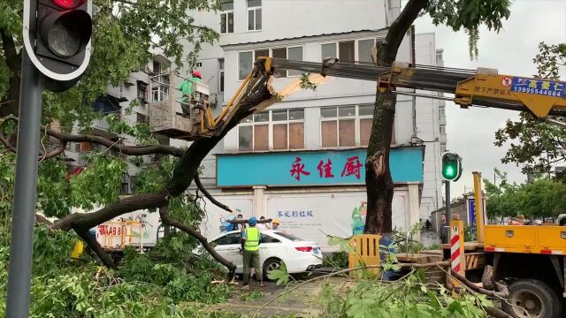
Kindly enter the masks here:
M 287 273 L 296 274 L 322 267 L 322 253 L 316 242 L 305 241 L 282 231 L 262 230 L 259 245 L 259 263 L 264 275 L 285 264 Z M 229 231 L 218 235 L 210 243 L 214 250 L 227 261 L 236 265 L 236 274 L 243 273 L 241 231 Z M 200 252 L 199 252 L 200 254 Z

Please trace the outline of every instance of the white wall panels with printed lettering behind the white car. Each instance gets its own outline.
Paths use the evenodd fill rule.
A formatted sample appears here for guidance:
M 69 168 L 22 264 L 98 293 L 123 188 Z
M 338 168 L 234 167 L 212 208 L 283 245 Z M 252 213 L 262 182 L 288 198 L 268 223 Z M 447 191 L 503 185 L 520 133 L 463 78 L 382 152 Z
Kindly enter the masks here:
M 298 191 L 297 193 L 265 193 L 254 198 L 254 194 L 218 193 L 216 199 L 231 208 L 239 208 L 244 218 L 252 216 L 255 200 L 262 200 L 266 218 L 279 218 L 281 229 L 294 234 L 301 239 L 317 242 L 324 252 L 336 250 L 336 246 L 329 246 L 325 234 L 348 238 L 352 235 L 352 212 L 366 201 L 365 191 L 348 192 L 316 192 Z M 409 189 L 407 187 L 395 188 L 393 200 L 393 225 L 400 229 L 409 226 Z M 279 211 L 289 211 L 291 217 L 279 216 Z M 293 211 L 310 212 L 312 216 L 295 216 Z M 201 226 L 201 231 L 207 239 L 216 237 L 219 233 L 220 218 L 227 212 L 207 201 L 207 218 Z M 239 213 L 239 212 L 237 212 Z M 236 214 L 237 214 L 236 213 Z M 418 220 L 417 220 L 418 221 Z M 412 222 L 414 223 L 414 222 Z

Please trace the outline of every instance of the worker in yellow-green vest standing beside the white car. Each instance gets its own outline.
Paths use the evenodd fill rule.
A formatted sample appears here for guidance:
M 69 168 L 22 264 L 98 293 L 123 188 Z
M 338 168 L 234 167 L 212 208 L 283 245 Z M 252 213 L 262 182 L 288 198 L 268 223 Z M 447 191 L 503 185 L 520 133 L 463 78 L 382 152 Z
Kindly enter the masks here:
M 261 287 L 264 287 L 262 269 L 259 267 L 259 244 L 261 243 L 262 233 L 257 230 L 256 216 L 248 220 L 249 227 L 241 232 L 241 247 L 244 254 L 244 288 L 249 285 L 249 269 L 256 270 L 256 279 Z

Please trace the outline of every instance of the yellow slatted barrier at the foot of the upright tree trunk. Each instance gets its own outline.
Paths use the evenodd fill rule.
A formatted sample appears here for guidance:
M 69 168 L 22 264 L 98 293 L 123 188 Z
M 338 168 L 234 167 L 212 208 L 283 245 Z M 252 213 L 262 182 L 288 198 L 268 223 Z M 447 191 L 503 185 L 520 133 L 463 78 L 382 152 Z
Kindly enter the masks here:
M 349 246 L 353 248 L 353 251 L 348 253 L 348 269 L 381 265 L 381 260 L 379 259 L 379 239 L 381 239 L 381 236 L 377 234 L 363 234 L 352 237 L 348 242 Z M 379 268 L 361 269 L 350 271 L 350 276 L 360 277 L 364 276 L 363 274 L 379 276 L 379 273 Z

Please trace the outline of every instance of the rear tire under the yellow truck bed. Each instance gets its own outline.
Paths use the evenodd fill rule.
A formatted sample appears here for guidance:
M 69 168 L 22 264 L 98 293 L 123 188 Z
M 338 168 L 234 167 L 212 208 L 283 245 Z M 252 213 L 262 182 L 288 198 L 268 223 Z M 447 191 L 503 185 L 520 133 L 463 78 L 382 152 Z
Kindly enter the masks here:
M 511 284 L 508 302 L 503 302 L 503 310 L 515 318 L 562 317 L 562 299 L 537 279 L 519 279 Z

